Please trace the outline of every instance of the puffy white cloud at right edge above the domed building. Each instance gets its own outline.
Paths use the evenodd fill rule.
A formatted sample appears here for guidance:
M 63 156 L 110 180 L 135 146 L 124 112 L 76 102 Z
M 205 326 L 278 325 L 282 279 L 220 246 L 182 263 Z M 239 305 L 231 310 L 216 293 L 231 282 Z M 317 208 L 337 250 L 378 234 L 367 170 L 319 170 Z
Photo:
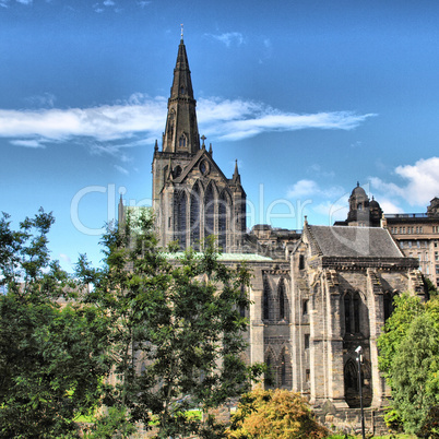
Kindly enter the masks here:
M 387 193 L 406 200 L 411 205 L 426 205 L 439 194 L 439 157 L 422 158 L 414 165 L 398 166 L 396 175 L 405 180 L 399 186 L 380 178 L 370 178 L 371 185 Z

